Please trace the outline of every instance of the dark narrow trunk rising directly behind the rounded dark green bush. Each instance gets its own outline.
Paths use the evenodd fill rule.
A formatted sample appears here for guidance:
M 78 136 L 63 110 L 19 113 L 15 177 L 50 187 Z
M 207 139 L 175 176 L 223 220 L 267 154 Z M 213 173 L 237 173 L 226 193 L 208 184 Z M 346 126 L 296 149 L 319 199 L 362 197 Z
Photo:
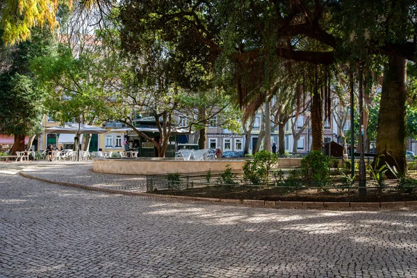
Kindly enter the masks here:
M 311 104 L 311 136 L 313 142 L 311 145 L 312 151 L 320 151 L 323 142 L 323 104 L 322 95 L 319 90 L 316 90 L 313 95 L 313 102 Z

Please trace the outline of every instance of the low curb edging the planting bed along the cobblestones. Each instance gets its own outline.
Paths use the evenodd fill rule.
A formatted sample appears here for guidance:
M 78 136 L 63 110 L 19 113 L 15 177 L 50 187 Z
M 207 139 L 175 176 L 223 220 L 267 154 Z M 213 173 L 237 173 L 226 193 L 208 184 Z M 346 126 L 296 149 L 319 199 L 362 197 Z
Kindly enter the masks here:
M 173 198 L 173 199 L 186 199 L 190 201 L 204 201 L 204 202 L 221 202 L 227 204 L 249 204 L 251 206 L 264 206 L 267 208 L 404 208 L 409 206 L 417 206 L 417 201 L 407 202 L 288 202 L 288 201 L 263 201 L 258 199 L 217 199 L 217 198 L 204 198 L 204 197 L 189 197 L 189 196 L 176 196 L 176 195 L 161 195 L 152 193 L 138 193 L 129 192 L 123 190 L 114 190 L 107 188 L 95 188 L 91 186 L 81 186 L 76 183 L 67 183 L 63 181 L 50 181 L 48 179 L 42 179 L 39 177 L 26 174 L 24 171 L 19 172 L 20 175 L 28 179 L 35 179 L 43 181 L 45 183 L 59 184 L 61 186 L 70 186 L 73 188 L 79 188 L 83 190 L 93 190 L 103 193 L 113 193 L 120 195 L 130 196 L 146 196 L 157 198 Z

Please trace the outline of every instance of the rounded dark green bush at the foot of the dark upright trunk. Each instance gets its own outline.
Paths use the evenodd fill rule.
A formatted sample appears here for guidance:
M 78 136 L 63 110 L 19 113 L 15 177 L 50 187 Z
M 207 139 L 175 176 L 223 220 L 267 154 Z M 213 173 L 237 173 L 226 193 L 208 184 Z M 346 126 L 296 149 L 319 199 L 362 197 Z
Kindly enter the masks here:
M 329 156 L 323 156 L 320 151 L 313 151 L 301 161 L 301 171 L 304 179 L 325 183 L 330 179 Z

